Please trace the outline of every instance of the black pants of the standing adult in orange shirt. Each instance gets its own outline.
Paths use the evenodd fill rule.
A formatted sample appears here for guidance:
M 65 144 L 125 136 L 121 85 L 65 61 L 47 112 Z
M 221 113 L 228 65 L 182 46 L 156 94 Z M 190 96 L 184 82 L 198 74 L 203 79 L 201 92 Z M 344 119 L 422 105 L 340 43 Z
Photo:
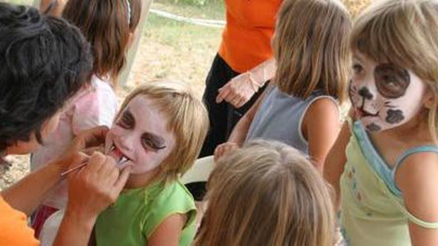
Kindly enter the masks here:
M 239 73 L 233 71 L 217 54 L 207 76 L 206 89 L 203 96 L 209 110 L 210 131 L 202 147 L 200 157 L 213 155 L 216 146 L 226 142 L 239 119 L 248 111 L 263 91 L 263 89 L 260 89 L 252 96 L 251 100 L 240 108 L 234 108 L 225 101 L 216 103 L 219 88 L 237 75 Z

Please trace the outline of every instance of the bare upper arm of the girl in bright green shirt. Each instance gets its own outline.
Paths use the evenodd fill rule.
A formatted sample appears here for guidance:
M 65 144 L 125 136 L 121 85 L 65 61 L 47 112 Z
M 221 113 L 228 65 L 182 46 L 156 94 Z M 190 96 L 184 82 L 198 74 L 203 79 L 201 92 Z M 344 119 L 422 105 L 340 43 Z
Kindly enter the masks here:
M 187 216 L 174 214 L 167 217 L 147 239 L 148 246 L 179 246 Z

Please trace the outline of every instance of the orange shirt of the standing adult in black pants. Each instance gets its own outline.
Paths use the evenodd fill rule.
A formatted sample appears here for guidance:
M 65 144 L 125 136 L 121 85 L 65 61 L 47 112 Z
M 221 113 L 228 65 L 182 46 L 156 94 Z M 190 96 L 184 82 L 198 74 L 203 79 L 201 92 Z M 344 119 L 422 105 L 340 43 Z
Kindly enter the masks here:
M 220 57 L 243 73 L 272 57 L 271 37 L 281 0 L 225 0 Z

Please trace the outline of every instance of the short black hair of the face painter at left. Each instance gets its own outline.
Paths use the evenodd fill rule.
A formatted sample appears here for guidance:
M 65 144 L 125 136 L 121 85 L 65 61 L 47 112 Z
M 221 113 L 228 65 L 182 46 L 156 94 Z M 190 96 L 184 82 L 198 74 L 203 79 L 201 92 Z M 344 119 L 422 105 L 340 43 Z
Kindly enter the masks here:
M 37 9 L 0 2 L 0 152 L 41 129 L 89 81 L 81 31 Z

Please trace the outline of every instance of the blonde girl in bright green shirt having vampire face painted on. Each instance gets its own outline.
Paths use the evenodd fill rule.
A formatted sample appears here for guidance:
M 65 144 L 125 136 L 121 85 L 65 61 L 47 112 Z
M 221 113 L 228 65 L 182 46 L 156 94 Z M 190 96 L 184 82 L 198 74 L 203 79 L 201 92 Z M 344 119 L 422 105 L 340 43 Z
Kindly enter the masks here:
M 106 152 L 132 169 L 97 220 L 98 246 L 191 245 L 196 207 L 179 177 L 198 157 L 208 122 L 204 104 L 182 82 L 149 82 L 126 97 Z

